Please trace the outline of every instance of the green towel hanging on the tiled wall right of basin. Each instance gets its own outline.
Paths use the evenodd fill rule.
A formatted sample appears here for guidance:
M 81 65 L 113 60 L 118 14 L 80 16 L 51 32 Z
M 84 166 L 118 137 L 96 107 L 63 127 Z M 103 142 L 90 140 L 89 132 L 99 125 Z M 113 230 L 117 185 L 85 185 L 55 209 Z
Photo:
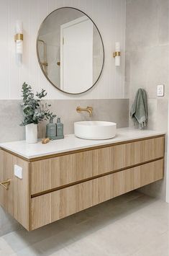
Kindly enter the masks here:
M 130 116 L 134 121 L 134 125 L 137 123 L 140 125 L 140 129 L 147 125 L 147 94 L 144 89 L 138 89 Z

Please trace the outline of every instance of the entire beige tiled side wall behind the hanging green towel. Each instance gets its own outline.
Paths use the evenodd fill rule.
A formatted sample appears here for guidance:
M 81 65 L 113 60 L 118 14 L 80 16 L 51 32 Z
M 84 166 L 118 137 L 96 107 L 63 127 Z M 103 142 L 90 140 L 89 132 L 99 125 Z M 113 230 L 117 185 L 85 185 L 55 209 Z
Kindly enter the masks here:
M 168 131 L 169 1 L 127 0 L 125 92 L 129 110 L 137 89 L 148 97 L 147 128 Z M 157 97 L 157 84 L 165 84 L 165 97 Z M 133 126 L 129 118 L 129 126 Z M 165 175 L 166 175 L 165 165 Z M 165 179 L 141 191 L 165 200 Z

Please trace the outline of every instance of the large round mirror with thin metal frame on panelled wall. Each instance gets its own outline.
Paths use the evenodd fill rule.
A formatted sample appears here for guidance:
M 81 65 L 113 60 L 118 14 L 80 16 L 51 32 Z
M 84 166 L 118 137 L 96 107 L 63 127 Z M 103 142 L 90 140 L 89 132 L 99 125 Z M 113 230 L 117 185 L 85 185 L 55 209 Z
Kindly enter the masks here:
M 104 45 L 91 18 L 71 7 L 56 9 L 40 26 L 37 58 L 43 74 L 60 91 L 91 89 L 104 66 Z

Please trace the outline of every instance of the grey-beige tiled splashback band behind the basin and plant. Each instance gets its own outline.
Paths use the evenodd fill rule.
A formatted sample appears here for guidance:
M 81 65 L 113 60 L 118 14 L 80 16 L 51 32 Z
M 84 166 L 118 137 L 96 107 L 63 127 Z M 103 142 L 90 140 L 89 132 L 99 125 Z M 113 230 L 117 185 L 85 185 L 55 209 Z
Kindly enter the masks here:
M 64 133 L 73 133 L 73 123 L 80 120 L 105 120 L 117 123 L 117 127 L 127 127 L 129 100 L 47 100 L 50 108 L 64 124 Z M 19 100 L 0 100 L 0 142 L 24 140 L 25 129 L 19 126 L 22 122 L 22 110 Z M 92 106 L 93 117 L 88 113 L 76 112 L 76 107 Z M 39 137 L 45 136 L 45 125 L 40 123 Z

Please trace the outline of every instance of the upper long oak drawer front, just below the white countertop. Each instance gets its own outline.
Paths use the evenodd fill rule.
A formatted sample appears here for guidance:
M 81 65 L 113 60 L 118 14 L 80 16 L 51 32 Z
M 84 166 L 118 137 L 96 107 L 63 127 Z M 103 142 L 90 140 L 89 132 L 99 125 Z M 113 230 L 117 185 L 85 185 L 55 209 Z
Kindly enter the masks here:
M 164 136 L 107 146 L 31 163 L 31 194 L 164 156 Z

